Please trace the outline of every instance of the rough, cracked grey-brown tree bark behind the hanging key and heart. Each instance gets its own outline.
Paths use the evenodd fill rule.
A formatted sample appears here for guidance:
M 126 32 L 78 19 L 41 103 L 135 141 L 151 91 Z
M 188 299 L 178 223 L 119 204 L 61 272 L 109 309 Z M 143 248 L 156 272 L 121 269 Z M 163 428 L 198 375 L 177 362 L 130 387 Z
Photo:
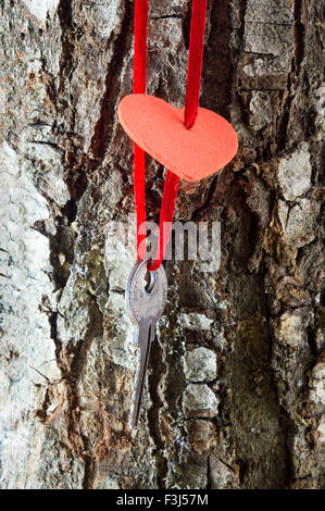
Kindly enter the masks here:
M 0 1 L 2 488 L 324 486 L 322 3 L 209 2 L 201 105 L 240 149 L 180 184 L 176 219 L 220 220 L 222 264 L 168 262 L 130 435 L 134 254 L 105 260 L 104 246 L 134 209 L 115 115 L 134 3 Z M 150 1 L 148 92 L 176 107 L 189 22 L 188 0 Z M 153 220 L 163 178 L 148 160 Z

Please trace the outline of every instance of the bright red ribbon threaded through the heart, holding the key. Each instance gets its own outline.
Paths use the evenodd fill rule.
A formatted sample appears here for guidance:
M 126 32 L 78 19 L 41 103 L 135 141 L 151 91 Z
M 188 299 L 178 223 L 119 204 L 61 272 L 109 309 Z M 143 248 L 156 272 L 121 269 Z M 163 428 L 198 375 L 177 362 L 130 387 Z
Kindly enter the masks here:
M 203 39 L 207 0 L 192 0 L 190 45 L 185 99 L 185 126 L 189 129 L 196 122 L 199 108 Z M 147 82 L 147 30 L 148 0 L 135 3 L 135 55 L 134 55 L 134 94 L 146 94 Z M 164 258 L 171 238 L 172 223 L 177 197 L 179 177 L 170 170 L 166 172 L 159 223 L 159 247 L 150 272 L 157 270 Z M 137 259 L 146 256 L 146 229 L 139 227 L 146 223 L 146 160 L 145 151 L 134 145 L 134 188 L 137 215 Z

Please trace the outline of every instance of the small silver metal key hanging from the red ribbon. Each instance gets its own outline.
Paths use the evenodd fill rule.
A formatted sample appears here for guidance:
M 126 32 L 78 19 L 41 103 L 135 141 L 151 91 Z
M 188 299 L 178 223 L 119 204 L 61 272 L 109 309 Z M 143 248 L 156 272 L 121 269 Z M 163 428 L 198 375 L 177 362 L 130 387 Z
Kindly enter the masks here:
M 149 272 L 150 282 L 146 285 L 147 264 L 148 260 L 135 264 L 126 287 L 126 307 L 136 326 L 133 342 L 138 346 L 138 369 L 129 415 L 130 429 L 138 425 L 150 345 L 154 339 L 155 325 L 164 311 L 167 298 L 165 269 L 160 265 L 158 270 Z

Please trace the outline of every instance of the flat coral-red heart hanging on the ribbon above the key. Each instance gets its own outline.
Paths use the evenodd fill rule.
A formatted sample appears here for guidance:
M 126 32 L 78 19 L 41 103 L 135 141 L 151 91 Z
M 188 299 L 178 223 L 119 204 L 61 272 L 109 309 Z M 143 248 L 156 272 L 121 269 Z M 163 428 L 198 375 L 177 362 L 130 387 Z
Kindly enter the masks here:
M 174 174 L 197 182 L 223 169 L 235 157 L 238 139 L 233 126 L 211 110 L 199 108 L 195 125 L 184 126 L 184 109 L 154 96 L 133 94 L 118 104 L 127 135 Z

